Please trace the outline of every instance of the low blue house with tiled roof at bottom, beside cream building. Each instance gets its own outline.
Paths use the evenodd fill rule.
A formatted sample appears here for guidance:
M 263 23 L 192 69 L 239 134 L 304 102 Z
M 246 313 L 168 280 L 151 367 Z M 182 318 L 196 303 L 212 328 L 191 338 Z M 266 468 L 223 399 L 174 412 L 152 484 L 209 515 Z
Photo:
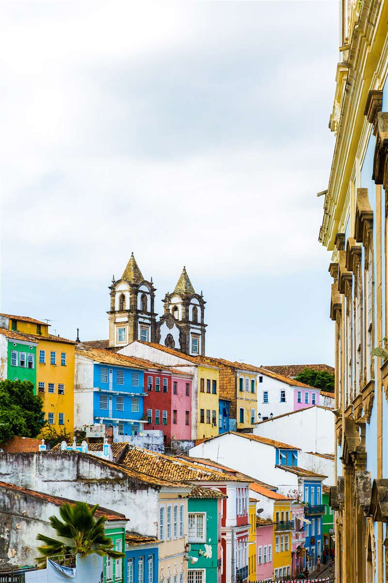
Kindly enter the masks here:
M 154 536 L 126 533 L 124 583 L 158 583 L 159 544 Z

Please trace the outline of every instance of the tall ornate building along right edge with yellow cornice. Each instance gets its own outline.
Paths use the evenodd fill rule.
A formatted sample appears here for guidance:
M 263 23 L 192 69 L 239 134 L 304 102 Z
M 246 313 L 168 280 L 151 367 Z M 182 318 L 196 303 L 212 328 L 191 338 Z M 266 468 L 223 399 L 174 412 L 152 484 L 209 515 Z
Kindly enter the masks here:
M 386 582 L 388 3 L 340 6 L 330 116 L 336 143 L 327 190 L 319 193 L 325 197 L 319 241 L 332 254 L 336 581 Z

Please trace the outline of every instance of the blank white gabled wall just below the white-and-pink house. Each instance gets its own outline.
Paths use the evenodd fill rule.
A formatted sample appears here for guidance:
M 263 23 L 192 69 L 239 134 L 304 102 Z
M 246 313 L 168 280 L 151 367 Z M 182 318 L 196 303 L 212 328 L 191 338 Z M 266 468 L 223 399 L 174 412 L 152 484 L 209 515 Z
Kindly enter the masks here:
M 257 423 L 256 436 L 276 439 L 282 437 L 303 451 L 319 454 L 334 452 L 334 413 L 321 406 L 291 411 Z

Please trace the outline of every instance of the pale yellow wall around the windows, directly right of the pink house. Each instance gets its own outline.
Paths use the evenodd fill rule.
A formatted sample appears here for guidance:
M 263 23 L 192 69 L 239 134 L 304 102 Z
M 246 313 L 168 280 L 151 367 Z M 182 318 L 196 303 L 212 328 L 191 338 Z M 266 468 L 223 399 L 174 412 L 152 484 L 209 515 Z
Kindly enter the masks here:
M 204 379 L 205 392 L 201 392 L 201 378 Z M 207 380 L 210 380 L 210 393 L 207 392 Z M 217 393 L 212 394 L 212 381 L 217 382 Z M 218 436 L 218 396 L 219 396 L 219 368 L 198 366 L 198 439 Z M 201 423 L 201 409 L 204 409 L 205 423 Z M 210 411 L 210 423 L 207 423 L 207 410 Z M 216 412 L 216 425 L 212 425 L 212 412 Z

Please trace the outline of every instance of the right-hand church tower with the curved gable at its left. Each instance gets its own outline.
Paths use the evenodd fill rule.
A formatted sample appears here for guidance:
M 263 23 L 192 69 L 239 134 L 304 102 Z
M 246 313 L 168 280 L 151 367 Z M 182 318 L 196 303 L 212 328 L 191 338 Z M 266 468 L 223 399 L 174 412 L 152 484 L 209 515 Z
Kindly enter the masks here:
M 195 293 L 186 267 L 173 293 L 166 293 L 164 314 L 156 325 L 156 342 L 191 356 L 205 355 L 205 300 Z

